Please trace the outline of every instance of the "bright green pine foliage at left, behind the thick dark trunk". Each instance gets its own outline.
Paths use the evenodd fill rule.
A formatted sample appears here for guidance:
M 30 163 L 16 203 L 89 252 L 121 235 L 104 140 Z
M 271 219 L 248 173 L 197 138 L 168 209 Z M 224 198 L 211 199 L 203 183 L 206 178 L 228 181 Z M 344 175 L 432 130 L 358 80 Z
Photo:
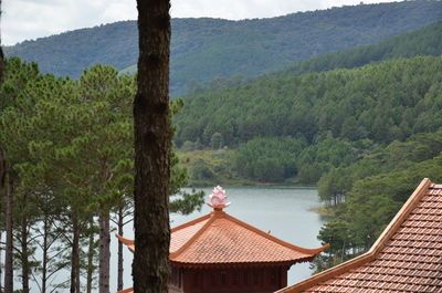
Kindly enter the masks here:
M 62 193 L 87 198 L 78 205 L 90 202 L 93 210 L 109 210 L 130 195 L 134 95 L 133 76 L 103 65 L 78 82 L 45 75 L 22 90 L 2 113 L 1 142 L 23 184 L 63 186 Z M 171 163 L 173 195 L 187 175 L 177 157 Z

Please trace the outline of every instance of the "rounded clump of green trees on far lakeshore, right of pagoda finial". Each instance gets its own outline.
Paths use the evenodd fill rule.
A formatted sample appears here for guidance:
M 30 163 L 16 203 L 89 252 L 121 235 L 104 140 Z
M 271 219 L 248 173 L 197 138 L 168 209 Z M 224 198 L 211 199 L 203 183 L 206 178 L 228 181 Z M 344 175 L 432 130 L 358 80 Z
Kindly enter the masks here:
M 254 138 L 238 147 L 234 156 L 240 175 L 259 180 L 277 182 L 297 174 L 296 158 L 305 140 L 290 137 Z

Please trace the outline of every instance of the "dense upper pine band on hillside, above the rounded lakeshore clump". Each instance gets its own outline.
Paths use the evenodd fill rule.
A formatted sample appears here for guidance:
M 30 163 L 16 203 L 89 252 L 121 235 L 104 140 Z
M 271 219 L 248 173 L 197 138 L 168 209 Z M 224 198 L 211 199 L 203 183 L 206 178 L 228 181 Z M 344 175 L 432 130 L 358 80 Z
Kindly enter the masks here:
M 275 136 L 389 144 L 442 126 L 441 88 L 440 56 L 266 79 L 185 98 L 176 142 L 209 146 L 220 133 L 229 147 Z

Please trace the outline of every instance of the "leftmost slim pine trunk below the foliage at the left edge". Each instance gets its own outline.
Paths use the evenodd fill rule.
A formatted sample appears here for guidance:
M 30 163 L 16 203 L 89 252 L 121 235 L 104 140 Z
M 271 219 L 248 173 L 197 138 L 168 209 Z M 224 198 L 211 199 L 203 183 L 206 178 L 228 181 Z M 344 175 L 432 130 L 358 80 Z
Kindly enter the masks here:
M 7 166 L 6 169 L 9 169 Z M 4 205 L 6 217 L 6 231 L 7 231 L 7 247 L 4 252 L 4 293 L 13 292 L 13 243 L 12 243 L 12 197 L 13 197 L 13 179 L 12 176 L 7 175 L 7 192 Z

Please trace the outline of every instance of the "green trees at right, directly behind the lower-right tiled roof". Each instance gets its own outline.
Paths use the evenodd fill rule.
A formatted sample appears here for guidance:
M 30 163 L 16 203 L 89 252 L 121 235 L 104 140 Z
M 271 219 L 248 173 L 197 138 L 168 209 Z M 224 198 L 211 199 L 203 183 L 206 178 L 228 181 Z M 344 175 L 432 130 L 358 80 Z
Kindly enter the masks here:
M 442 129 L 417 134 L 406 142 L 375 148 L 358 161 L 323 176 L 319 198 L 335 199 L 339 224 L 329 222 L 323 227 L 318 239 L 336 247 L 332 245 L 326 258 L 315 261 L 316 269 L 327 269 L 369 249 L 422 178 L 441 181 L 441 149 Z M 349 241 L 339 252 L 344 231 Z

